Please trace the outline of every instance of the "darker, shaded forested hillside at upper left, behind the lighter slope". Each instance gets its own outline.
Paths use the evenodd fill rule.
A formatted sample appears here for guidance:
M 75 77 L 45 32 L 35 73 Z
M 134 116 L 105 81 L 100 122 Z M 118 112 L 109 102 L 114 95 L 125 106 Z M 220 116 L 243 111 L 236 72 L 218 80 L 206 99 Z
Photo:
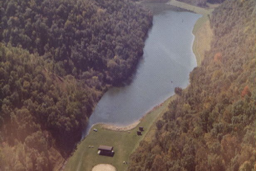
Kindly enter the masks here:
M 3 41 L 44 55 L 54 73 L 118 84 L 143 53 L 151 16 L 129 1 L 11 0 L 1 8 Z

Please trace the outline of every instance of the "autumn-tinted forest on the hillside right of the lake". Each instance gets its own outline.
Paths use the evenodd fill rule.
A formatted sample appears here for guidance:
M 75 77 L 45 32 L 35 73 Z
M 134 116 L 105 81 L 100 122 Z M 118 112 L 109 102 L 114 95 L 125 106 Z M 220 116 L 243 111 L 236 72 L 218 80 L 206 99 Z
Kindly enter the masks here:
M 256 1 L 225 1 L 210 24 L 211 50 L 129 171 L 256 170 Z

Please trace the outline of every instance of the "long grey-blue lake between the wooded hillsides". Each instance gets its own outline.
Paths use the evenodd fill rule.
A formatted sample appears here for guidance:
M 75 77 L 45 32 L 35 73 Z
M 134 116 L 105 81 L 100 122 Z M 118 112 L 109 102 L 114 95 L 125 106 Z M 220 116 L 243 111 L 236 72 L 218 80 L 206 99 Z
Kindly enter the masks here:
M 197 66 L 192 30 L 200 16 L 174 11 L 154 15 L 133 81 L 124 87 L 110 88 L 102 96 L 82 138 L 96 123 L 129 125 L 173 95 L 175 87 L 188 86 L 189 73 Z

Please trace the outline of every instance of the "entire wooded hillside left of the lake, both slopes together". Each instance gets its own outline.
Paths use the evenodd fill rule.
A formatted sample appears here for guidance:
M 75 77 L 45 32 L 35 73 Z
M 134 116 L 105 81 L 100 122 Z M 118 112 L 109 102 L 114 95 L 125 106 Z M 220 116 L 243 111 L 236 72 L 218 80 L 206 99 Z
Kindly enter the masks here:
M 4 0 L 0 170 L 59 170 L 102 94 L 132 74 L 151 24 L 128 0 Z

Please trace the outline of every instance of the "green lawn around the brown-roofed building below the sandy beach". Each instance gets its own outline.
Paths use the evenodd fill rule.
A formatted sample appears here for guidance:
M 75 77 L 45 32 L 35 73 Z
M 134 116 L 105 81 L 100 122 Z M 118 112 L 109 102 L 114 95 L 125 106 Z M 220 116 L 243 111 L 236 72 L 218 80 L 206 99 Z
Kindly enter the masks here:
M 65 171 L 91 171 L 93 166 L 101 163 L 112 164 L 117 171 L 125 171 L 128 164 L 123 164 L 123 161 L 128 161 L 130 154 L 148 132 L 153 132 L 149 131 L 151 126 L 167 110 L 169 102 L 174 98 L 175 96 L 168 98 L 162 105 L 150 111 L 136 128 L 130 130 L 130 133 L 102 129 L 101 124 L 94 125 L 92 129 L 96 128 L 98 132 L 90 130 L 89 135 L 78 145 L 74 155 L 68 159 Z M 143 126 L 145 130 L 142 136 L 136 135 L 139 126 Z M 89 148 L 89 145 L 93 145 L 94 148 Z M 114 157 L 99 156 L 99 145 L 114 146 Z

